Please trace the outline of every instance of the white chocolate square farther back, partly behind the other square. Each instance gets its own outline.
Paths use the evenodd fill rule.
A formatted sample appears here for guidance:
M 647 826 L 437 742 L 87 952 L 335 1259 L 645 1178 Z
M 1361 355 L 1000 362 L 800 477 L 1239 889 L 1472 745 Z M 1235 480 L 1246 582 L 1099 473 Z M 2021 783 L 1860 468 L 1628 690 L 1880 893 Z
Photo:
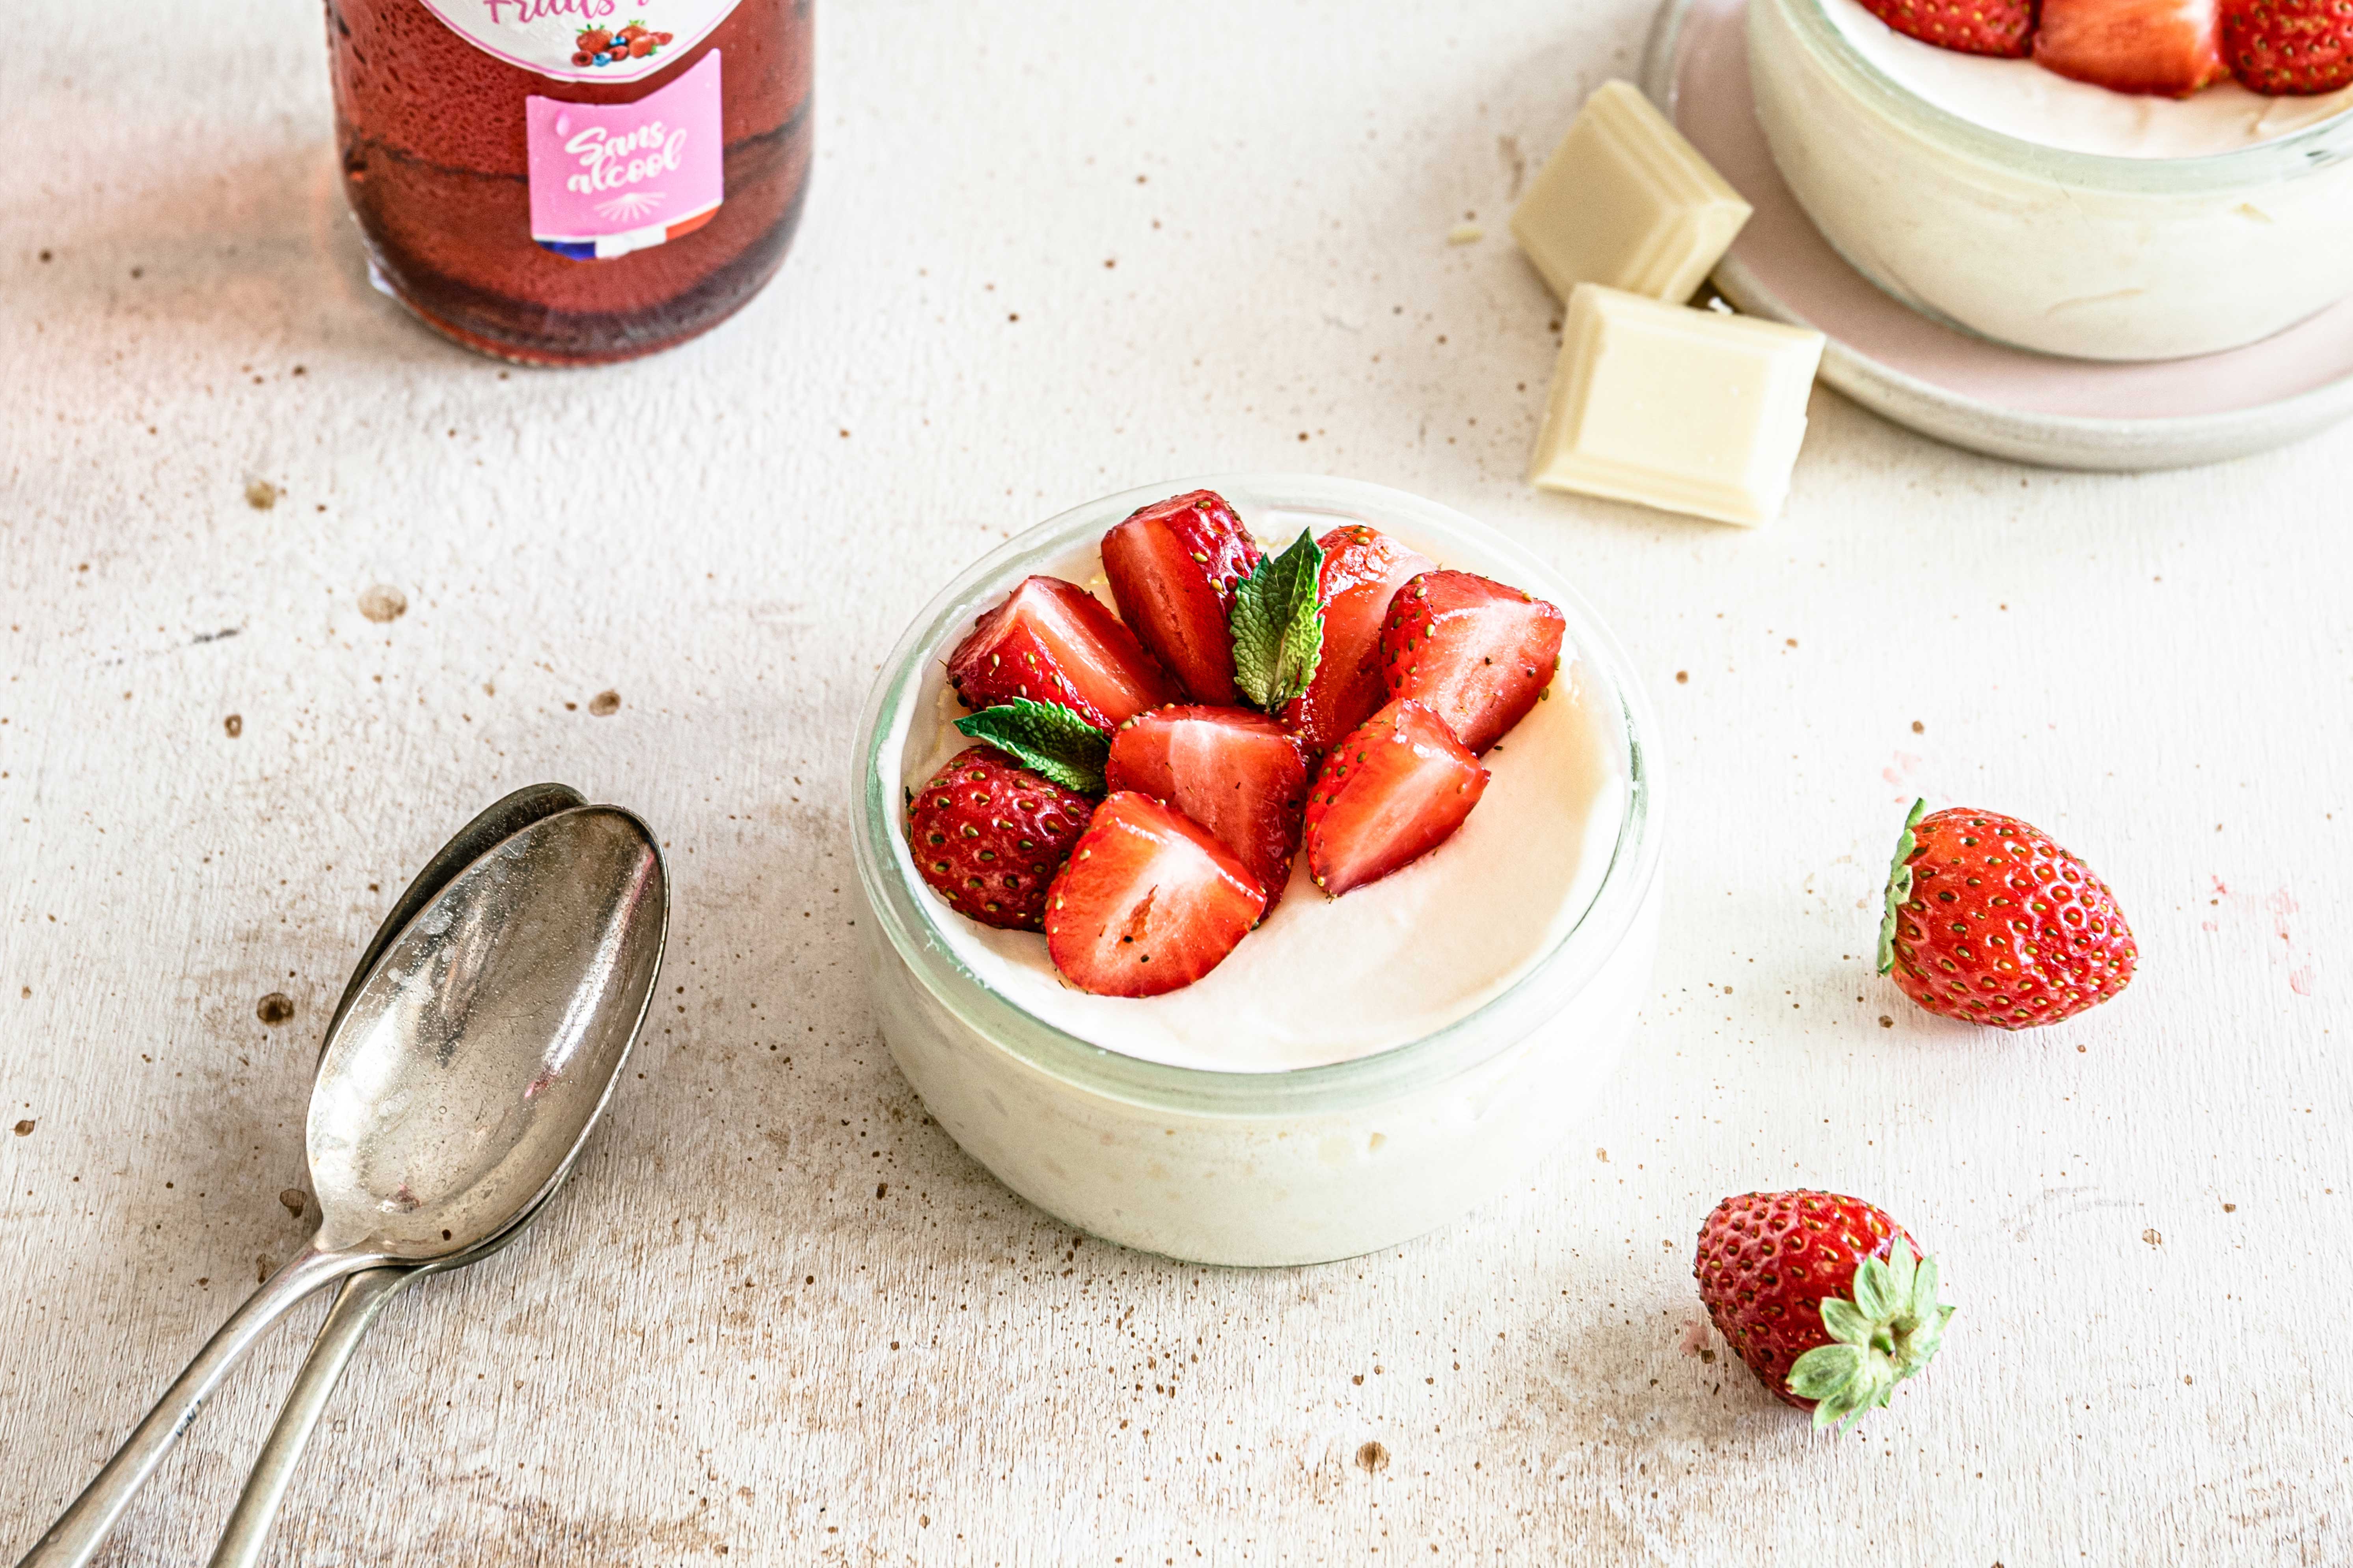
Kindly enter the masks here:
M 1685 301 L 1748 212 L 1633 82 L 1602 82 L 1520 197 L 1511 233 L 1560 299 L 1598 282 Z

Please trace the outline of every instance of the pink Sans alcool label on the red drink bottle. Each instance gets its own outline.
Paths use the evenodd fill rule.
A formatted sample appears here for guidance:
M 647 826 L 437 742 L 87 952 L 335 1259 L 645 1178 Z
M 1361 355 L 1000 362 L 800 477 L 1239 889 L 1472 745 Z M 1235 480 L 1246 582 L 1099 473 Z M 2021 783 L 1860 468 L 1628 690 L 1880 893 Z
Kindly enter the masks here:
M 605 261 L 711 221 L 727 195 L 720 52 L 635 103 L 522 101 L 532 237 L 558 256 Z

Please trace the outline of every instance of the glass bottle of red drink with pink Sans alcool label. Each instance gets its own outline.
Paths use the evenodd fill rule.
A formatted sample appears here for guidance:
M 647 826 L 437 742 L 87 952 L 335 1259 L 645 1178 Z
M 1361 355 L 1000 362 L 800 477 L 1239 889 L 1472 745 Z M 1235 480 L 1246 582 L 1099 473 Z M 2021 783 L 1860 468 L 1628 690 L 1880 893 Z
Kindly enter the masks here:
M 327 0 L 344 195 L 376 280 L 504 360 L 727 320 L 809 183 L 809 0 Z

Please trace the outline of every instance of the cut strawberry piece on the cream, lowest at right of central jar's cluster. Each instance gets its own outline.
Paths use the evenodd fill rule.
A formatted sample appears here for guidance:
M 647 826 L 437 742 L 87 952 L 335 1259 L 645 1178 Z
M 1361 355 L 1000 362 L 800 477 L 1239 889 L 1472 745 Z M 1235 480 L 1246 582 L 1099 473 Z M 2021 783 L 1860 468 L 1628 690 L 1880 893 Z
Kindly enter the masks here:
M 1487 792 L 1487 769 L 1421 703 L 1395 701 L 1341 738 L 1308 790 L 1315 886 L 1339 898 L 1452 837 Z

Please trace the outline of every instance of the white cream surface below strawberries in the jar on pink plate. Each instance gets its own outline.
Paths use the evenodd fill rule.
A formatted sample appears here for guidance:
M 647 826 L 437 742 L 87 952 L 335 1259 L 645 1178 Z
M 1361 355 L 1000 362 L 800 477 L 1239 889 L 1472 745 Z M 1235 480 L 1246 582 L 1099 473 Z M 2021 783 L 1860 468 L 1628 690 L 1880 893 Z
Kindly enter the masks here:
M 2278 141 L 2353 108 L 2353 87 L 2266 99 L 2214 82 L 2188 99 L 2108 92 L 2031 59 L 1960 54 L 1906 38 L 1857 0 L 1821 0 L 1840 35 L 1887 80 L 1988 132 L 2106 158 L 2207 158 Z

